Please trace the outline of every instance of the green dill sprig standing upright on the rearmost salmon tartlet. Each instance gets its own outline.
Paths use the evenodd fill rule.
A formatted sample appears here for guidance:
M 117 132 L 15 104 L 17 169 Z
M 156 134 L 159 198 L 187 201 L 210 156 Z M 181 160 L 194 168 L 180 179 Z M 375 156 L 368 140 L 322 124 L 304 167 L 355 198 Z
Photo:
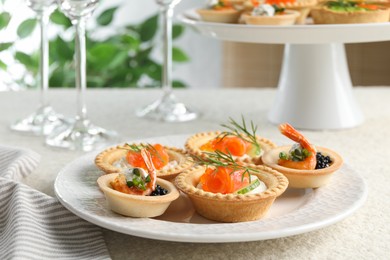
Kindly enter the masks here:
M 250 122 L 251 129 L 248 130 L 247 123 L 245 122 L 244 116 L 241 115 L 241 124 L 237 123 L 233 118 L 229 117 L 230 125 L 221 124 L 222 127 L 225 127 L 230 130 L 230 132 L 224 131 L 221 133 L 220 137 L 223 139 L 226 136 L 237 136 L 244 141 L 250 142 L 257 149 L 260 150 L 260 144 L 256 138 L 257 126 Z

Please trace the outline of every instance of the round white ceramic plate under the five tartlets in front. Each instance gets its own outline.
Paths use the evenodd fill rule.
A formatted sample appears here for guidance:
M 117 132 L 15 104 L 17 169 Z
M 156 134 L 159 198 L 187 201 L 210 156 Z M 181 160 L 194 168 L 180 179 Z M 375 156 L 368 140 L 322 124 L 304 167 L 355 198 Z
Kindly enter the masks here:
M 143 142 L 182 147 L 188 135 L 143 139 Z M 137 142 L 137 141 L 136 141 Z M 358 209 L 367 196 L 363 179 L 342 167 L 322 188 L 288 189 L 277 198 L 267 216 L 243 223 L 217 223 L 196 214 L 182 195 L 158 218 L 130 218 L 112 212 L 96 180 L 102 174 L 87 154 L 60 171 L 54 184 L 61 203 L 77 216 L 117 232 L 180 242 L 239 242 L 291 236 L 336 223 Z

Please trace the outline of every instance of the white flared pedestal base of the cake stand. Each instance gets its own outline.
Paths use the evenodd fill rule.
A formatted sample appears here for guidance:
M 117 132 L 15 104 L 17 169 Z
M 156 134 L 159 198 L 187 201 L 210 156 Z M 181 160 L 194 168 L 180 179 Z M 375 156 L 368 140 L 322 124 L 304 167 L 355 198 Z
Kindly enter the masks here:
M 344 44 L 286 44 L 269 120 L 300 129 L 344 129 L 363 116 L 352 93 Z

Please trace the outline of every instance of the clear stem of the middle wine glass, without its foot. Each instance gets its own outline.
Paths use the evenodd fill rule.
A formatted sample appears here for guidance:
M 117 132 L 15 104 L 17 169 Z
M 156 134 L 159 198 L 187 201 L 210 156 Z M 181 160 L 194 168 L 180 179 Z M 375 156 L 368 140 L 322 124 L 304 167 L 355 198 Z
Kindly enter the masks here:
M 76 89 L 77 89 L 77 120 L 87 119 L 87 107 L 85 105 L 86 57 L 85 57 L 85 19 L 79 18 L 72 21 L 76 28 L 75 58 L 76 58 Z

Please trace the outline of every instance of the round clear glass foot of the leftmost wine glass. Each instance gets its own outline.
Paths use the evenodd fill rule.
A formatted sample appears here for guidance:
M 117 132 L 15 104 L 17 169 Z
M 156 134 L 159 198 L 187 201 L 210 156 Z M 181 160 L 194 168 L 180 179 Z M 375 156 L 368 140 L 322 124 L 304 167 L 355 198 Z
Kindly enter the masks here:
M 26 118 L 16 121 L 10 128 L 22 133 L 48 135 L 55 128 L 64 125 L 69 125 L 69 122 L 62 115 L 56 113 L 51 106 L 43 106 Z

